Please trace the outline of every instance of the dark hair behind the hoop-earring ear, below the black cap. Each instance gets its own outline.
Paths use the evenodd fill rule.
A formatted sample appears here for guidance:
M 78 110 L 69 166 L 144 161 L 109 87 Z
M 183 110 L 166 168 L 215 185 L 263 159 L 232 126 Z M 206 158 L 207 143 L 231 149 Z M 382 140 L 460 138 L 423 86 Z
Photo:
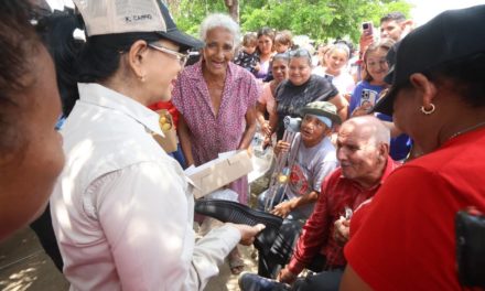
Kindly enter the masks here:
M 453 84 L 446 89 L 454 90 L 470 106 L 485 106 L 485 52 L 446 62 L 423 74 L 439 85 L 451 79 Z

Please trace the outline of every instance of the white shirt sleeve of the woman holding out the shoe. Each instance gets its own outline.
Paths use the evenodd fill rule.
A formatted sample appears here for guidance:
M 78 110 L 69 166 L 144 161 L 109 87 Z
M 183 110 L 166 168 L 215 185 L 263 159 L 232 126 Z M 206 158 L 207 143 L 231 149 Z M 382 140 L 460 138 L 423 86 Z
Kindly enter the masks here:
M 144 162 L 101 179 L 93 203 L 123 290 L 203 290 L 240 240 L 225 226 L 194 245 L 193 197 L 169 165 Z

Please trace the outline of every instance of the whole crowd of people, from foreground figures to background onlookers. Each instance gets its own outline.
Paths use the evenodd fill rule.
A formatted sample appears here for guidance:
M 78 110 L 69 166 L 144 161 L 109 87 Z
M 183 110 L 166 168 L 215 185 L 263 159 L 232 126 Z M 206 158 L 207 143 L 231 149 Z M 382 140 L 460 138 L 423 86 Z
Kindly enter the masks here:
M 257 207 L 300 227 L 280 269 L 240 274 L 241 290 L 470 287 L 454 218 L 485 213 L 485 6 L 418 28 L 389 13 L 358 50 L 336 41 L 314 56 L 288 30 L 241 36 L 224 13 L 197 39 L 161 1 L 74 3 L 0 0 L 0 240 L 40 217 L 72 290 L 203 290 L 226 258 L 240 274 L 237 245 L 265 225 L 196 217 L 183 169 L 250 151 L 259 131 L 277 157 L 297 148 L 281 198 Z M 186 65 L 190 50 L 201 58 Z M 174 153 L 154 138 L 160 108 L 175 117 Z M 291 143 L 287 117 L 302 119 Z M 225 188 L 248 205 L 247 176 Z

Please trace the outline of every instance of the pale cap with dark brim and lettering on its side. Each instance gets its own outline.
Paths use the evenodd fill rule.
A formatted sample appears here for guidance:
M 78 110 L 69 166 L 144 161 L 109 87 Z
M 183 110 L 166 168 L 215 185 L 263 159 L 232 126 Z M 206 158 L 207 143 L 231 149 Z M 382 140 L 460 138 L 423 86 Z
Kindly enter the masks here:
M 204 42 L 181 32 L 160 0 L 74 0 L 86 35 L 154 32 L 180 45 L 181 51 L 201 48 Z

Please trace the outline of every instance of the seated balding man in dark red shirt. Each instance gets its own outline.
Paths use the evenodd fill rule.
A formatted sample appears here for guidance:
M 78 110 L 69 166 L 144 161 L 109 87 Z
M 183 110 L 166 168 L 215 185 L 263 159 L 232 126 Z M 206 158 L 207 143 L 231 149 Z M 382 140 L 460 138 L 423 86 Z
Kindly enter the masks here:
M 281 282 L 292 284 L 304 268 L 320 265 L 317 271 L 322 272 L 297 280 L 293 288 L 338 289 L 346 261 L 343 247 L 333 236 L 334 223 L 374 196 L 384 180 L 399 165 L 389 158 L 389 130 L 371 116 L 352 118 L 342 125 L 337 137 L 341 168 L 322 185 L 290 263 L 278 276 Z M 248 273 L 239 279 L 239 284 L 241 290 L 271 290 L 279 283 Z

